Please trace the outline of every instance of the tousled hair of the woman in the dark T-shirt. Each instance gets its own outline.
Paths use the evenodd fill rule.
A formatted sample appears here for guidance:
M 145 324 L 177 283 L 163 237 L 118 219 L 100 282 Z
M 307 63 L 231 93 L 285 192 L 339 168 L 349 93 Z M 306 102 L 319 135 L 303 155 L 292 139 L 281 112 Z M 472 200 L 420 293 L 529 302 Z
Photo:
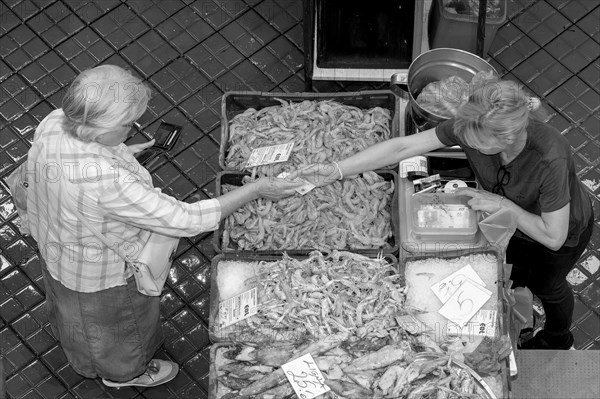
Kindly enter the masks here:
M 516 136 L 527 128 L 530 119 L 546 118 L 539 103 L 535 109 L 530 109 L 530 104 L 530 94 L 519 83 L 500 80 L 485 84 L 458 109 L 454 132 L 467 144 L 485 142 L 490 136 Z

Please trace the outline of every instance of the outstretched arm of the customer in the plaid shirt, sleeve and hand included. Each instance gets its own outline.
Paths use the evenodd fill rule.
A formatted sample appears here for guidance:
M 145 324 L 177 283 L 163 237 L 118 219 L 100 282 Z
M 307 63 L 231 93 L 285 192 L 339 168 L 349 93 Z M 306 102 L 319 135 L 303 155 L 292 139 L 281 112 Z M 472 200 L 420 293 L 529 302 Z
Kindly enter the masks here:
M 140 181 L 118 181 L 98 200 L 112 219 L 174 237 L 215 230 L 219 221 L 258 197 L 283 198 L 301 181 L 263 178 L 216 199 L 186 203 Z

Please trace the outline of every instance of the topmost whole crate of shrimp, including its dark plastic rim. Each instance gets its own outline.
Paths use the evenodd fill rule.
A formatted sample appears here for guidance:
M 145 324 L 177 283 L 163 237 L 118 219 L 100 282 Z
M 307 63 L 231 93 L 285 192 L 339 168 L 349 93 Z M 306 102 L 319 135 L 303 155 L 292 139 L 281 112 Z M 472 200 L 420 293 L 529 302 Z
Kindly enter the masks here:
M 261 176 L 276 176 L 284 165 L 340 160 L 399 136 L 399 109 L 397 97 L 386 90 L 227 92 L 221 104 L 219 164 L 223 170 L 252 168 Z M 256 161 L 257 154 L 274 146 L 287 149 L 285 162 Z

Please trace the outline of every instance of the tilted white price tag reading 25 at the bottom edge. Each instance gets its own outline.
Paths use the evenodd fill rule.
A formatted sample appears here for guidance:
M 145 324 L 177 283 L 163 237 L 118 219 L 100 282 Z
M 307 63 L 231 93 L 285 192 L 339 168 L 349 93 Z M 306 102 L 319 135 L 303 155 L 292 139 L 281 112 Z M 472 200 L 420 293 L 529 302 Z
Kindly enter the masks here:
M 330 390 L 310 353 L 284 364 L 281 368 L 300 399 L 316 398 Z

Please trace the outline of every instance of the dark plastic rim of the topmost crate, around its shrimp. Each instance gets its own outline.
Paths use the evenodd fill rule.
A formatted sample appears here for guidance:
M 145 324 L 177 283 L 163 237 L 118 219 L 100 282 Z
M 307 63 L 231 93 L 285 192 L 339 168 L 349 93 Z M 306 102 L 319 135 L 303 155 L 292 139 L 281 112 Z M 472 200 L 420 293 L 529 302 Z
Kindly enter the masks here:
M 229 148 L 229 125 L 231 119 L 249 108 L 260 110 L 273 105 L 281 105 L 277 99 L 291 102 L 333 100 L 340 104 L 352 105 L 361 109 L 381 107 L 390 111 L 390 135 L 400 135 L 400 99 L 389 90 L 359 91 L 350 93 L 264 93 L 227 92 L 221 100 L 221 145 L 219 165 L 223 170 L 236 170 L 225 164 Z M 282 143 L 273 143 L 282 144 Z

